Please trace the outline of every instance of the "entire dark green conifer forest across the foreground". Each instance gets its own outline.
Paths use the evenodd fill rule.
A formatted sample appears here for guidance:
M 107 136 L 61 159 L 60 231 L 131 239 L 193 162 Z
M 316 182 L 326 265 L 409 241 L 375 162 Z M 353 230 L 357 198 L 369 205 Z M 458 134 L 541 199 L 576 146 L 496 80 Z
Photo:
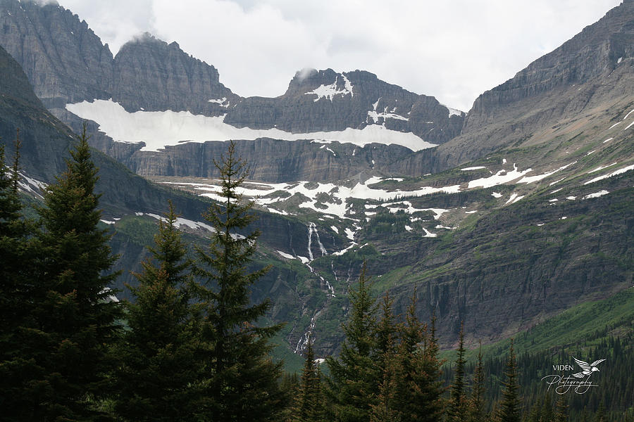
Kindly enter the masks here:
M 0 421 L 634 421 L 634 377 L 619 370 L 634 368 L 634 321 L 619 324 L 625 336 L 606 328 L 537 352 L 539 326 L 497 350 L 468 350 L 461 328 L 456 349 L 441 351 L 416 290 L 396 314 L 365 263 L 340 353 L 316 359 L 309 338 L 302 370 L 288 371 L 271 353 L 282 329 L 266 320 L 273 304 L 251 302 L 269 268 L 253 269 L 260 234 L 237 193 L 249 167 L 233 143 L 215 162 L 223 200 L 202 216 L 209 243 L 189 248 L 166 203 L 132 299 L 116 300 L 87 137 L 41 204 L 18 189 L 19 136 L 13 157 L 0 149 Z M 552 362 L 581 348 L 609 362 L 595 363 L 600 388 L 547 390 Z

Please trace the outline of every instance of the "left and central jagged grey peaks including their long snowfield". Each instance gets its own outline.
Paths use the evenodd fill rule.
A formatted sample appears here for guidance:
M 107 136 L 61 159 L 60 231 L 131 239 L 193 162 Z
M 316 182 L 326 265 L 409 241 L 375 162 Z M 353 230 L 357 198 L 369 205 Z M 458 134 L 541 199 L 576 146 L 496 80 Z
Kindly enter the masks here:
M 156 165 L 143 165 L 144 174 L 170 160 L 157 150 L 183 141 L 335 139 L 359 146 L 392 143 L 418 151 L 452 139 L 463 125 L 464 113 L 363 71 L 302 70 L 282 96 L 241 98 L 220 83 L 213 66 L 189 56 L 177 43 L 167 44 L 150 34 L 128 42 L 113 58 L 85 22 L 58 4 L 1 0 L 0 25 L 0 45 L 23 66 L 44 105 L 75 130 L 80 119 L 97 122 L 91 127 L 96 135 L 92 144 L 135 171 L 139 160 L 156 158 Z M 113 113 L 123 115 L 119 107 L 128 120 L 144 120 L 156 131 L 112 133 L 109 118 Z M 197 116 L 196 122 L 216 117 L 206 120 L 206 126 L 213 122 L 213 130 L 201 131 L 191 115 Z M 185 130 L 160 143 L 156 134 L 165 130 L 156 122 Z M 97 134 L 99 126 L 106 136 Z M 247 128 L 253 130 L 240 130 Z M 138 151 L 143 147 L 139 141 L 146 144 L 143 151 L 154 153 Z M 280 143 L 276 148 L 286 146 Z M 352 171 L 342 170 L 340 163 L 332 166 L 332 174 L 372 170 L 367 164 Z M 273 179 L 283 179 L 284 173 L 280 169 Z

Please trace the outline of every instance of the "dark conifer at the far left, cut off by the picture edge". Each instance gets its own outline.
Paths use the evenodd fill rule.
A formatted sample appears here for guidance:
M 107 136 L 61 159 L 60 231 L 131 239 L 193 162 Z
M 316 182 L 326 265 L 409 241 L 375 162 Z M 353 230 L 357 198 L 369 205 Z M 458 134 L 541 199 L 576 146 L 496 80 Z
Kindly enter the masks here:
M 34 299 L 33 226 L 21 215 L 20 136 L 13 166 L 0 145 L 0 421 L 30 421 L 45 387 L 42 368 L 33 359 L 40 336 L 32 321 Z

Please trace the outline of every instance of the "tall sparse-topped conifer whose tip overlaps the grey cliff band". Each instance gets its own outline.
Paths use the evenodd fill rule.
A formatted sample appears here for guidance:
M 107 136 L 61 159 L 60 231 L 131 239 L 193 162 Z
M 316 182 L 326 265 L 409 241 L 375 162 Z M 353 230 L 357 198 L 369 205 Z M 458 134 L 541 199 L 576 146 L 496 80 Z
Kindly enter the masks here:
M 256 326 L 271 302 L 251 305 L 251 285 L 268 267 L 247 272 L 256 252 L 259 231 L 247 236 L 237 233 L 256 218 L 249 214 L 253 202 L 244 202 L 237 193 L 247 178 L 247 164 L 235 155 L 230 143 L 227 155 L 215 162 L 220 171 L 222 204 L 212 203 L 204 218 L 214 232 L 209 251 L 197 248 L 194 273 L 202 284 L 194 289 L 204 303 L 203 340 L 208 345 L 206 362 L 209 378 L 201 412 L 213 421 L 268 421 L 275 417 L 285 397 L 278 385 L 281 362 L 273 363 L 269 339 L 281 326 Z

